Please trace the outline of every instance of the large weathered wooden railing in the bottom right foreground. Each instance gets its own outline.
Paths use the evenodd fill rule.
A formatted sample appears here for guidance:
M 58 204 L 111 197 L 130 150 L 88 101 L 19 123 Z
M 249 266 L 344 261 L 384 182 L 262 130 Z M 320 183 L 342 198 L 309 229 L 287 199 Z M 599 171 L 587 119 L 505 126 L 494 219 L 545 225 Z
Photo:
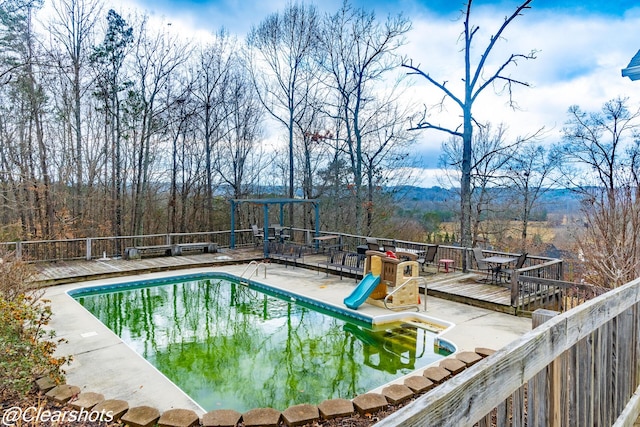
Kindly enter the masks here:
M 640 279 L 550 317 L 376 426 L 632 426 L 639 360 Z

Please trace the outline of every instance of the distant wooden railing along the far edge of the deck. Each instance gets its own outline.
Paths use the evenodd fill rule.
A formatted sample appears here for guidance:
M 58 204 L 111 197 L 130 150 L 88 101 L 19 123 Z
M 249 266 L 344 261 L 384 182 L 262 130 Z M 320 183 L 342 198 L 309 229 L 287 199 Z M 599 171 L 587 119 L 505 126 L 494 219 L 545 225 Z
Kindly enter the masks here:
M 313 245 L 314 230 L 293 228 L 290 230 L 291 240 L 307 245 Z M 343 248 L 355 251 L 366 243 L 366 237 L 347 233 L 323 231 L 320 235 L 339 235 Z M 428 246 L 426 243 L 378 238 L 382 245 L 393 244 L 399 248 L 422 251 Z M 66 240 L 37 240 L 23 242 L 0 243 L 6 251 L 15 251 L 18 258 L 28 262 L 51 262 L 67 260 L 91 260 L 102 257 L 120 257 L 124 250 L 132 246 L 175 245 L 184 243 L 216 243 L 225 248 L 231 244 L 230 231 L 213 231 L 199 233 L 168 233 L 140 236 L 121 237 L 89 237 L 83 239 Z M 255 240 L 250 229 L 236 230 L 234 233 L 235 247 L 254 246 Z M 503 255 L 517 256 L 517 254 L 484 250 L 485 256 Z M 436 261 L 439 259 L 453 259 L 455 266 L 462 265 L 463 257 L 467 257 L 467 266 L 477 269 L 471 251 L 467 248 L 452 245 L 439 245 Z M 512 277 L 512 306 L 519 313 L 531 313 L 538 308 L 548 308 L 565 311 L 576 304 L 593 298 L 603 292 L 602 289 L 563 282 L 563 263 L 560 259 L 541 256 L 529 256 L 524 266 L 517 270 Z

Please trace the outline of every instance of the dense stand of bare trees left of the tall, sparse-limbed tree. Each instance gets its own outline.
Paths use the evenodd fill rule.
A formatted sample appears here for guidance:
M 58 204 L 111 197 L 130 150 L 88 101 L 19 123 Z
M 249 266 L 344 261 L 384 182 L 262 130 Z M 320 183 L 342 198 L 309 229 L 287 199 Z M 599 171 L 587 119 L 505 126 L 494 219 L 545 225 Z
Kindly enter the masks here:
M 225 229 L 227 199 L 269 187 L 320 198 L 322 228 L 393 227 L 406 19 L 291 4 L 244 40 L 189 41 L 99 0 L 46 6 L 0 3 L 3 240 Z M 314 226 L 300 209 L 287 222 Z

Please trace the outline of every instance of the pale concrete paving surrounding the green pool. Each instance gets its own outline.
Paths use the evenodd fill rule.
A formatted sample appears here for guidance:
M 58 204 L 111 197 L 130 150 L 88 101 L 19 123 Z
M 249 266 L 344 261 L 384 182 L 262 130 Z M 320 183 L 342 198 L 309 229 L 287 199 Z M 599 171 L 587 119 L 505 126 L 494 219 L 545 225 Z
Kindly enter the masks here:
M 45 288 L 44 298 L 51 300 L 53 309 L 50 327 L 57 337 L 67 341 L 59 345 L 58 354 L 73 356 L 72 363 L 65 367 L 67 383 L 80 387 L 82 392 L 92 391 L 102 393 L 107 399 L 126 400 L 130 407 L 148 405 L 161 412 L 183 408 L 204 414 L 206 411 L 68 296 L 67 291 L 197 273 L 221 272 L 240 276 L 245 270 L 247 264 L 193 268 Z M 335 275 L 326 276 L 280 264 L 268 264 L 266 278 L 260 268 L 252 280 L 340 307 L 344 307 L 343 299 L 357 284 L 354 279 L 341 280 Z M 367 303 L 360 306 L 358 312 L 369 316 L 390 313 Z M 442 338 L 455 344 L 460 351 L 473 351 L 476 347 L 498 350 L 531 330 L 530 319 L 434 297 L 428 297 L 425 314 L 455 324 Z

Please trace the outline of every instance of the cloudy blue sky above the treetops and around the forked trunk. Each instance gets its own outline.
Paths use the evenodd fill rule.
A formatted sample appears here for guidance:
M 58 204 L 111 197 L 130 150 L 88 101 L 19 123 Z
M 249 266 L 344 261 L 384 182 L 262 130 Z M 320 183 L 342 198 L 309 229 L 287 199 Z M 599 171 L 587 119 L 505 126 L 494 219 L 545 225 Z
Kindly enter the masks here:
M 117 1 L 122 0 L 114 0 Z M 342 0 L 307 1 L 321 13 L 335 13 Z M 479 26 L 477 52 L 484 50 L 489 37 L 504 18 L 520 4 L 519 0 L 474 0 L 472 23 Z M 115 3 L 114 3 L 115 4 Z M 216 32 L 220 28 L 242 38 L 252 26 L 271 13 L 282 11 L 287 0 L 134 0 L 124 10 L 135 8 L 150 17 L 164 19 L 186 33 Z M 420 64 L 437 81 L 457 89 L 463 77 L 464 63 L 459 43 L 463 30 L 460 11 L 464 0 L 352 0 L 355 7 L 373 9 L 383 20 L 388 15 L 403 14 L 412 22 L 402 55 Z M 119 11 L 118 7 L 116 9 Z M 124 11 L 123 10 L 123 11 Z M 509 138 L 531 135 L 544 128 L 541 143 L 560 140 L 567 110 L 578 105 L 584 111 L 599 111 L 608 100 L 628 97 L 629 106 L 640 106 L 640 81 L 621 76 L 633 55 L 640 49 L 640 2 L 637 0 L 533 0 L 531 9 L 519 16 L 496 45 L 489 61 L 503 63 L 511 53 L 537 51 L 535 60 L 520 61 L 508 73 L 529 87 L 518 87 L 514 100 L 518 109 L 507 104 L 508 96 L 498 96 L 488 89 L 474 105 L 474 115 L 493 127 L 504 124 Z M 398 69 L 398 74 L 406 70 Z M 433 105 L 441 97 L 426 79 L 409 76 L 412 101 Z M 455 92 L 455 90 L 454 90 Z M 459 96 L 462 94 L 456 92 Z M 449 109 L 431 117 L 433 121 L 455 125 L 459 111 Z M 421 171 L 418 184 L 441 184 L 435 177 L 441 172 L 438 156 L 448 135 L 437 131 L 419 131 L 416 156 Z

